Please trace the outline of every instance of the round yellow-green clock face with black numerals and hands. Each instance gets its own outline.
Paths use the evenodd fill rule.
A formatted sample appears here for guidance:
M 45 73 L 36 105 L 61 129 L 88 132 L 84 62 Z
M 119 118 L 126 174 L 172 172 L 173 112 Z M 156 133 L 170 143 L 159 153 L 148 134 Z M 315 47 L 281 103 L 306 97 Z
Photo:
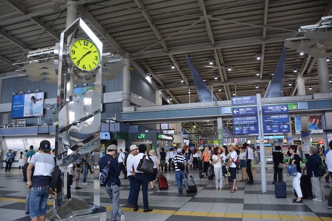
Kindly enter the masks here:
M 92 71 L 100 62 L 98 47 L 88 39 L 77 39 L 70 45 L 70 58 L 73 64 L 83 70 Z

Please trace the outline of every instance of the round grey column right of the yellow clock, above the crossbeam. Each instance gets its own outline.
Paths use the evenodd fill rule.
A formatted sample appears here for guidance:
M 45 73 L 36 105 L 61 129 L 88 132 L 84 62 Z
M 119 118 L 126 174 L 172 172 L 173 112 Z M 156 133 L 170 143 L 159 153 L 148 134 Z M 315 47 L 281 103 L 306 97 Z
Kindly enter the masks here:
M 129 53 L 125 53 L 125 66 L 122 71 L 122 110 L 123 107 L 130 106 L 130 59 Z

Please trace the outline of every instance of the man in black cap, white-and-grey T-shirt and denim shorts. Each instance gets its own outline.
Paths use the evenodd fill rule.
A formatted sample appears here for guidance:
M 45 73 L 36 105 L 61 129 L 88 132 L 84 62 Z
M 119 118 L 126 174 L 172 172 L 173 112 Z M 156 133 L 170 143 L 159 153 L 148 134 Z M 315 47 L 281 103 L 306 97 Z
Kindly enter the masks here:
M 40 142 L 39 154 L 31 157 L 27 168 L 28 188 L 30 192 L 30 218 L 32 221 L 45 220 L 49 182 L 55 167 L 55 160 L 50 155 L 50 143 Z M 35 166 L 33 182 L 30 177 Z

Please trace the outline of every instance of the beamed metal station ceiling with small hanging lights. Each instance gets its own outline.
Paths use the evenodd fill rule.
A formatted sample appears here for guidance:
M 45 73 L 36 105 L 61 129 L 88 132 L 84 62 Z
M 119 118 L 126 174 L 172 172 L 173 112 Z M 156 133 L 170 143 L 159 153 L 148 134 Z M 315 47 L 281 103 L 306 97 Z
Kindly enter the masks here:
M 67 2 L 0 2 L 1 77 L 24 74 L 22 68 L 31 51 L 52 48 L 59 42 L 66 27 Z M 328 0 L 72 2 L 78 5 L 79 17 L 103 42 L 103 51 L 122 57 L 129 54 L 172 103 L 199 102 L 186 57 L 218 100 L 257 93 L 264 96 L 285 40 L 296 36 L 301 26 L 332 15 L 332 1 Z M 307 95 L 319 92 L 316 58 L 287 49 L 284 96 L 297 95 L 298 75 L 305 79 Z

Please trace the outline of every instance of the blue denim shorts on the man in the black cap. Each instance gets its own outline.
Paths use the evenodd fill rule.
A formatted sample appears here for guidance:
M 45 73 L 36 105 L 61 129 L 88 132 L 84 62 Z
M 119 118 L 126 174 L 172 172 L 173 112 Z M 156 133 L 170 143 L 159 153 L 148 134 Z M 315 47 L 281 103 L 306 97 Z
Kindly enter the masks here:
M 48 188 L 30 191 L 29 212 L 30 218 L 46 215 Z

